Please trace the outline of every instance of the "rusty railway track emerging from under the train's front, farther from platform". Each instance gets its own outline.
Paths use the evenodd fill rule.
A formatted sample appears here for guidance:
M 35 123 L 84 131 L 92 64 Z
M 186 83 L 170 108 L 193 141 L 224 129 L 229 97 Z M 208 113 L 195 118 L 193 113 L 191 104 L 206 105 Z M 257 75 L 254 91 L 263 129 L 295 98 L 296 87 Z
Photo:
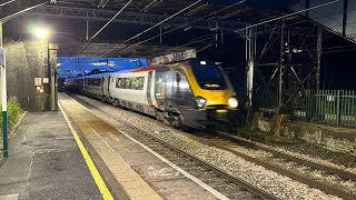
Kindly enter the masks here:
M 248 140 L 238 139 L 226 133 L 215 133 L 214 136 L 200 133 L 198 136 L 188 137 L 207 146 L 233 152 L 250 162 L 263 166 L 264 168 L 276 171 L 283 176 L 287 176 L 313 188 L 323 190 L 326 193 L 334 194 L 343 199 L 356 199 L 356 189 L 353 186 L 343 187 L 340 184 L 346 181 L 355 181 L 355 173 L 285 153 L 273 148 L 256 144 Z M 259 150 L 267 153 L 263 153 L 265 157 L 254 157 L 250 152 L 246 153 L 237 150 L 237 144 L 244 146 L 249 150 Z M 334 179 L 329 179 L 330 174 L 334 174 Z

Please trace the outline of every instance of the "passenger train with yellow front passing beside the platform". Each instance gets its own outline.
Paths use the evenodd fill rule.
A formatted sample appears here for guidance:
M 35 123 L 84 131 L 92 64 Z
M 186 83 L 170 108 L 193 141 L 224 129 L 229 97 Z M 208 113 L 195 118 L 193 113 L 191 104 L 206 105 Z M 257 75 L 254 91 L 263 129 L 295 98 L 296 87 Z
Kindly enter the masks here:
M 198 58 L 68 78 L 65 88 L 178 128 L 207 129 L 229 121 L 238 109 L 219 63 Z

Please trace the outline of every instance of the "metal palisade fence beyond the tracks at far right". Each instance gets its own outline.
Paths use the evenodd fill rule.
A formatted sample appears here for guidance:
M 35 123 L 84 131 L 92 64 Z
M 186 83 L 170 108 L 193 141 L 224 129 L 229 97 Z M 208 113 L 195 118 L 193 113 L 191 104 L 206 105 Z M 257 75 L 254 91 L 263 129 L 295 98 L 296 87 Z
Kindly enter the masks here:
M 306 90 L 294 102 L 294 119 L 337 127 L 356 127 L 356 92 L 345 90 Z

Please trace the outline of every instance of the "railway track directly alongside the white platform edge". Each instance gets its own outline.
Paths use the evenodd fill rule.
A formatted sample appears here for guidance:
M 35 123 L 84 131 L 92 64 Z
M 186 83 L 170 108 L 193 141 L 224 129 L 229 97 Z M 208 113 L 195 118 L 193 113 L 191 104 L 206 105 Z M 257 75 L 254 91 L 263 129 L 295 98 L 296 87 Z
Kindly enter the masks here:
M 82 101 L 81 99 L 75 99 L 89 109 L 98 109 L 90 103 Z M 210 186 L 228 199 L 276 199 L 275 196 L 260 190 L 259 188 L 241 179 L 224 172 L 215 166 L 204 161 L 199 157 L 190 154 L 185 150 L 167 143 L 166 141 L 152 136 L 148 131 L 141 130 L 140 128 L 123 120 L 117 119 L 108 113 L 105 114 L 120 121 L 120 123 L 123 123 L 125 126 L 120 129 L 130 137 L 149 147 L 151 150 L 184 169 L 195 178 Z

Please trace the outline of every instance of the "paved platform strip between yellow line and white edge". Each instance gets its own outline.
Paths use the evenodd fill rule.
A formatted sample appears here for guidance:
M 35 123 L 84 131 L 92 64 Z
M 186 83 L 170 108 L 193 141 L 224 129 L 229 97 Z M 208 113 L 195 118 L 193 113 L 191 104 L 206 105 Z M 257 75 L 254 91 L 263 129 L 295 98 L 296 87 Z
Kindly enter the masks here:
M 105 177 L 127 193 L 129 199 L 219 199 L 220 193 L 199 184 L 187 174 L 165 162 L 125 132 L 99 116 L 60 93 L 59 104 L 82 138 L 89 152 L 95 151 L 99 167 L 107 168 Z M 100 164 L 101 161 L 101 164 Z M 117 194 L 120 196 L 120 194 Z M 224 199 L 224 198 L 222 198 Z

